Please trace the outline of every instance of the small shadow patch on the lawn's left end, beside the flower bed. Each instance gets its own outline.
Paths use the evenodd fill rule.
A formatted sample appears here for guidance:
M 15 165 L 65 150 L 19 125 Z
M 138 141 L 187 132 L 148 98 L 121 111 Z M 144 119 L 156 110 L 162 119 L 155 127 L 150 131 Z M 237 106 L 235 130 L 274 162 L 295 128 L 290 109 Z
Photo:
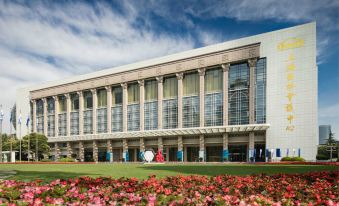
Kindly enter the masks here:
M 43 182 L 50 182 L 55 179 L 68 179 L 80 176 L 99 176 L 99 174 L 93 173 L 74 173 L 74 172 L 50 172 L 50 171 L 16 171 L 17 174 L 7 179 L 20 180 L 20 181 L 34 181 L 37 179 Z

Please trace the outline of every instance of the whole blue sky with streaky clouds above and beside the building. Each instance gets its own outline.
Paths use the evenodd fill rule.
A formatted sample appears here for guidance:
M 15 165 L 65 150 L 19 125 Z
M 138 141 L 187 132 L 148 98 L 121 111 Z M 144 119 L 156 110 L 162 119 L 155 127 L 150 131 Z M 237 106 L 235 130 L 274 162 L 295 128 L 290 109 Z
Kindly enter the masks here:
M 20 87 L 317 22 L 319 124 L 339 135 L 339 1 L 2 1 L 0 104 Z

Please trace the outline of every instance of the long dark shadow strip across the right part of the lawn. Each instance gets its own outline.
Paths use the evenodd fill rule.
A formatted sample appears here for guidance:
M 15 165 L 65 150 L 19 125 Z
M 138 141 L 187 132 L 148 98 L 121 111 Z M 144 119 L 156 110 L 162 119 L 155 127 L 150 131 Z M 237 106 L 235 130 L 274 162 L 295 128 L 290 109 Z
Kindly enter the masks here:
M 252 174 L 278 174 L 278 173 L 305 173 L 315 171 L 336 170 L 336 166 L 314 166 L 314 165 L 147 165 L 145 170 L 170 171 L 177 174 L 197 174 L 215 176 L 221 174 L 229 175 L 252 175 Z

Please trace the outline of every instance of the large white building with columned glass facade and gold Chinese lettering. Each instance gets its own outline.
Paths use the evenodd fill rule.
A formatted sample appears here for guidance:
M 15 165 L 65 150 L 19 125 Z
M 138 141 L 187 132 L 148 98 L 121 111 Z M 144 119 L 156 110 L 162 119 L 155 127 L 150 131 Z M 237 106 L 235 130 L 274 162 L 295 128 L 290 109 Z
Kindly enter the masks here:
M 316 24 L 19 89 L 16 105 L 55 159 L 315 160 Z

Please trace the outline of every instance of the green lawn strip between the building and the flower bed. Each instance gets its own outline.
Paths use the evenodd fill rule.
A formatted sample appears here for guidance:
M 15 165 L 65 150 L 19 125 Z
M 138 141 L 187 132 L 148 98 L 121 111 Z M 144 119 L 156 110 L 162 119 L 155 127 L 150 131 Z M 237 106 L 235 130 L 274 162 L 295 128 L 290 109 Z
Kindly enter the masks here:
M 57 178 L 70 178 L 77 176 L 111 176 L 111 177 L 137 177 L 146 178 L 150 174 L 157 177 L 169 175 L 248 175 L 257 173 L 303 173 L 311 171 L 338 170 L 337 166 L 328 165 L 250 165 L 250 164 L 164 164 L 164 165 L 143 165 L 143 164 L 25 164 L 25 165 L 0 165 L 1 172 L 14 170 L 16 175 L 9 179 L 34 180 L 42 179 L 50 181 Z

